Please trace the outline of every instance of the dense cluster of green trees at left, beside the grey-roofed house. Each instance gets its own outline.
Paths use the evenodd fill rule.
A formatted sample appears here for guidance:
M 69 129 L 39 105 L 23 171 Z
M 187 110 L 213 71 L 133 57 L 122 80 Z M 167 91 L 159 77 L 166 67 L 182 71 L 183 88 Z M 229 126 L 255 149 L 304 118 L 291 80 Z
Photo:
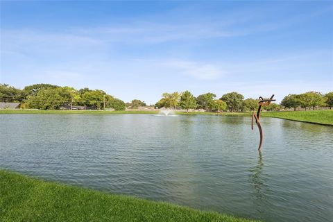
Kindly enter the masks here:
M 88 106 L 96 109 L 125 110 L 126 104 L 101 89 L 74 89 L 51 84 L 34 84 L 17 89 L 0 84 L 0 101 L 19 102 L 24 108 L 58 110 L 63 105 Z

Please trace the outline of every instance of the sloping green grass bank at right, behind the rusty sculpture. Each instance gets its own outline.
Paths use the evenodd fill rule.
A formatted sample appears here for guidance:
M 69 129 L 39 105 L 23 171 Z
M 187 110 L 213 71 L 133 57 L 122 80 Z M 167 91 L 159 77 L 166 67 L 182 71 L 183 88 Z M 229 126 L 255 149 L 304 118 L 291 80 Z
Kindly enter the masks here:
M 276 117 L 333 126 L 333 110 L 262 112 L 262 117 Z

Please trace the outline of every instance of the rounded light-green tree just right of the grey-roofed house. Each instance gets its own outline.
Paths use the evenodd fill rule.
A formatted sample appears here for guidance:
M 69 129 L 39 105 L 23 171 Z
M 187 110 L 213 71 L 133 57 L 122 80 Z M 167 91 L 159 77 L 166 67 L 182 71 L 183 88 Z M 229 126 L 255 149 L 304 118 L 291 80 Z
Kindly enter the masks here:
M 35 108 L 40 110 L 58 110 L 64 103 L 71 101 L 71 94 L 67 89 L 62 87 L 58 88 L 44 88 L 39 89 L 37 94 L 28 96 L 26 105 L 28 108 Z

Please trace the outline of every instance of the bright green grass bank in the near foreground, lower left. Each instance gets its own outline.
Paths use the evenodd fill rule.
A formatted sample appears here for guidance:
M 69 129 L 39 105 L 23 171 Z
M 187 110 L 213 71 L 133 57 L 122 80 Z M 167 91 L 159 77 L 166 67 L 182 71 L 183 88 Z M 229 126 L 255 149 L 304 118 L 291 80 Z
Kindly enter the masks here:
M 0 221 L 250 220 L 71 187 L 0 170 Z

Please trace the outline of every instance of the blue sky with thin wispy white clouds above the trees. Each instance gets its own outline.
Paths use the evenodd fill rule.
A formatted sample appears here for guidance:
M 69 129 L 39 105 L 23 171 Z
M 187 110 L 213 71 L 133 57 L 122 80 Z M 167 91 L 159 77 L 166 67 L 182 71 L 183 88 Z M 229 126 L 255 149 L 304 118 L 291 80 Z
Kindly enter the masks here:
M 333 89 L 332 1 L 1 1 L 0 82 L 246 98 Z

